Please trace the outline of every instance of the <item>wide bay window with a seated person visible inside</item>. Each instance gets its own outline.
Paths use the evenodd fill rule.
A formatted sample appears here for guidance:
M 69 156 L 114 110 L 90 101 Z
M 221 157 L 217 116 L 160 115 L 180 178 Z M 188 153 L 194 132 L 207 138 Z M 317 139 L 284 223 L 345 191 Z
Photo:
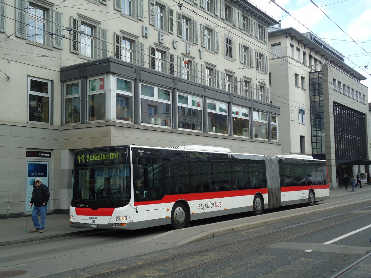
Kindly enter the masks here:
M 171 127 L 170 89 L 141 84 L 141 123 Z

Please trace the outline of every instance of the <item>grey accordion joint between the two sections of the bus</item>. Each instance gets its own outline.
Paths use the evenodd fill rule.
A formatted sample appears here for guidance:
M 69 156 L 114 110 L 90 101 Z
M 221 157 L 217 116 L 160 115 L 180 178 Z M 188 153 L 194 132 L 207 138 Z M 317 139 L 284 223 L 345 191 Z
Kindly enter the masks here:
M 281 206 L 281 186 L 278 169 L 278 158 L 276 156 L 265 157 L 268 188 L 268 208 Z

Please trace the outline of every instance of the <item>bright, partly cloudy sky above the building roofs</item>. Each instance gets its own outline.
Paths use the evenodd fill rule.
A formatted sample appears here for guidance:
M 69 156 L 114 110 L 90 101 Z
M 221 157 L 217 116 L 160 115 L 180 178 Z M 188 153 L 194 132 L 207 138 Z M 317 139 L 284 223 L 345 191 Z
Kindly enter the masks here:
M 345 63 L 367 78 L 361 83 L 368 87 L 371 102 L 370 0 L 275 0 L 290 15 L 273 1 L 248 1 L 281 20 L 282 28 L 312 32 L 340 52 Z

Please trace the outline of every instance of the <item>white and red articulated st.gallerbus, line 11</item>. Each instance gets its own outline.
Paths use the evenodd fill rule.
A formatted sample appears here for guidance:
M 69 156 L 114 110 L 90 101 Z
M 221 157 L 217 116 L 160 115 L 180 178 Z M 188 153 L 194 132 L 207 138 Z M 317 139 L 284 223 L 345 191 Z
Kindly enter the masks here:
M 140 229 L 329 198 L 325 160 L 227 148 L 76 150 L 70 227 Z

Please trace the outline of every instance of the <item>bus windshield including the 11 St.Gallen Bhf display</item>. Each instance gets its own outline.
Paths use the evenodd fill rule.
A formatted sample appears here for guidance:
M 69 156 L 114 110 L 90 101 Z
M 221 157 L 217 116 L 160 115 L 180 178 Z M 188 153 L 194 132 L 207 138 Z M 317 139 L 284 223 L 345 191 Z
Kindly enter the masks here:
M 76 151 L 73 163 L 72 206 L 125 206 L 131 196 L 127 148 Z

